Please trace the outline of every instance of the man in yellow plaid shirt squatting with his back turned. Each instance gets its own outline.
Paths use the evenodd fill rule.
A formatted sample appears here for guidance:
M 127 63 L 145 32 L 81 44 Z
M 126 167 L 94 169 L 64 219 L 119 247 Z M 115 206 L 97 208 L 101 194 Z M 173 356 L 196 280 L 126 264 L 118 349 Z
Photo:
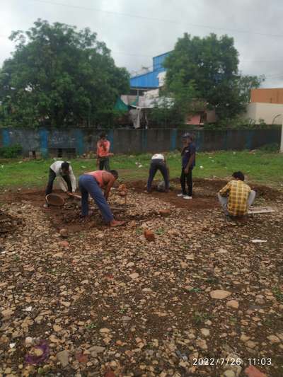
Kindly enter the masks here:
M 255 191 L 243 182 L 245 176 L 241 171 L 233 173 L 232 177 L 233 180 L 219 191 L 218 199 L 226 215 L 245 216 L 255 200 Z

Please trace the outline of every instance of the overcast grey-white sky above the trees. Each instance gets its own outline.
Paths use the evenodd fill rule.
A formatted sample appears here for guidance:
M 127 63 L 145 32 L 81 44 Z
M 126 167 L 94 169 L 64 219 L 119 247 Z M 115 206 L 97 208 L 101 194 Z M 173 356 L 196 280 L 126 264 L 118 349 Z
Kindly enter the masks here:
M 37 18 L 89 27 L 112 51 L 117 66 L 140 71 L 173 49 L 187 32 L 234 37 L 243 74 L 265 74 L 266 87 L 283 86 L 282 0 L 1 0 L 0 65 L 13 51 L 12 30 Z

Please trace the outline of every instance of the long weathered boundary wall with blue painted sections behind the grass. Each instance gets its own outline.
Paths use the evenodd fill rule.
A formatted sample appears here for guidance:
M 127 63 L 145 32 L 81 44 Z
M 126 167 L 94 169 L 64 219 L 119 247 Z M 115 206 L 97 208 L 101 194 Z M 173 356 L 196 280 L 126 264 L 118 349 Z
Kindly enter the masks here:
M 0 128 L 0 147 L 21 144 L 23 155 L 40 151 L 47 157 L 57 149 L 74 149 L 77 155 L 96 151 L 101 130 L 91 128 Z M 185 129 L 110 129 L 108 139 L 114 153 L 154 153 L 181 147 Z M 188 130 L 188 132 L 190 132 Z M 257 149 L 279 144 L 280 129 L 224 129 L 194 131 L 198 151 Z

